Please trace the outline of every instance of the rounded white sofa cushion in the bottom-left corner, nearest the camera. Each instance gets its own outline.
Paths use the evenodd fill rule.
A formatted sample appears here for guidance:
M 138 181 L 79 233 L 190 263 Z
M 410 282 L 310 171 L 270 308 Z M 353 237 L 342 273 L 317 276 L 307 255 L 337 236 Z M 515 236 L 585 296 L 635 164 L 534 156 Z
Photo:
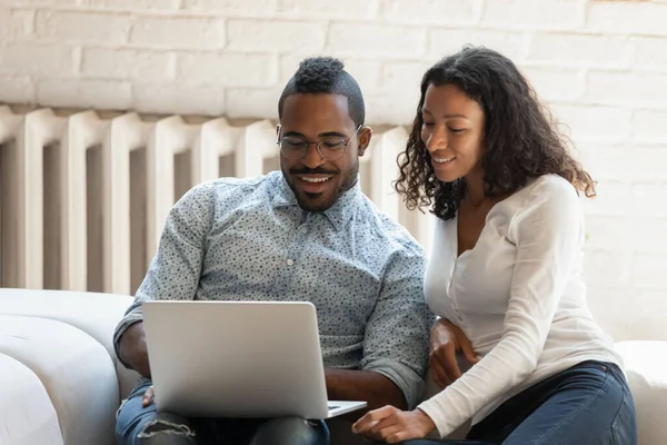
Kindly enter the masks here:
M 0 354 L 0 444 L 62 445 L 44 385 L 28 366 L 4 354 Z

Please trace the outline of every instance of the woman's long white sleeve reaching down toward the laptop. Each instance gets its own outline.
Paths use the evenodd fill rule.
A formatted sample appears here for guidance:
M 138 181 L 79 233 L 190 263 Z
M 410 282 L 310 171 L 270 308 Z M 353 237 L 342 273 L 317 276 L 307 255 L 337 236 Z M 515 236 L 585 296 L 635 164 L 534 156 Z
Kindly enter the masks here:
M 509 237 L 517 254 L 500 340 L 458 380 L 419 405 L 441 437 L 537 367 L 584 241 L 581 204 L 574 187 L 565 181 L 537 185 L 511 219 Z

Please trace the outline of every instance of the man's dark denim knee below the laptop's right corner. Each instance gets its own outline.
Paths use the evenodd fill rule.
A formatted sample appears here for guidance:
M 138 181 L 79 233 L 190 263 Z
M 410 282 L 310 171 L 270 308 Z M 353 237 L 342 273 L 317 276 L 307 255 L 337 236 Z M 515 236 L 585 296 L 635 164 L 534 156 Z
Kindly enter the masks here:
M 250 445 L 329 445 L 329 429 L 321 421 L 276 418 L 259 427 Z

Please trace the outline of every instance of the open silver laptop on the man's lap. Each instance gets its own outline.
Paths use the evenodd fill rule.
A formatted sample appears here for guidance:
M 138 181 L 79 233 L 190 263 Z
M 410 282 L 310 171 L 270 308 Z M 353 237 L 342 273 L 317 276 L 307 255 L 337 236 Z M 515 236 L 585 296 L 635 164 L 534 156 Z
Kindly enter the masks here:
M 159 411 L 317 419 L 367 406 L 327 400 L 311 303 L 147 301 L 143 328 Z

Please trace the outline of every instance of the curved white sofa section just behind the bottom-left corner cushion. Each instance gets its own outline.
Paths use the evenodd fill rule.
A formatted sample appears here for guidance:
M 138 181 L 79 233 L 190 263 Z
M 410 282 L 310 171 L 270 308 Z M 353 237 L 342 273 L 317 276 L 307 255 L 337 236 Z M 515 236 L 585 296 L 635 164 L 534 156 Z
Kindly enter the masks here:
M 118 379 L 109 354 L 92 337 L 61 322 L 0 315 L 0 354 L 41 380 L 67 445 L 113 443 Z

